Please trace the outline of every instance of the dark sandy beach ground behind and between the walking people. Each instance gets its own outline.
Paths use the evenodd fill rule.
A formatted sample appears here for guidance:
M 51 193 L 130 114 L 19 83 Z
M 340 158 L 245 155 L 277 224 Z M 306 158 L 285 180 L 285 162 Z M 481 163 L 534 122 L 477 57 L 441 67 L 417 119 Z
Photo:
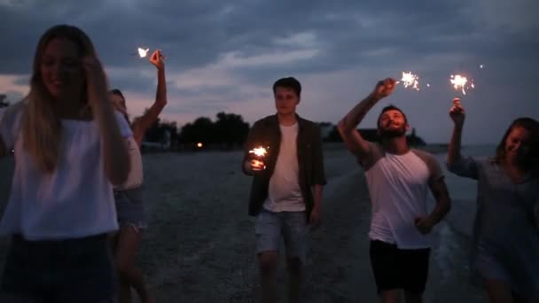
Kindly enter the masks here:
M 328 148 L 324 156 L 323 223 L 309 237 L 304 301 L 377 302 L 363 172 L 341 148 Z M 138 265 L 158 302 L 254 302 L 254 219 L 246 210 L 251 179 L 241 173 L 240 159 L 237 151 L 145 155 L 149 228 Z M 0 160 L 0 202 L 11 174 L 12 159 Z M 467 280 L 469 218 L 469 204 L 456 201 L 434 230 L 426 302 L 486 301 Z M 0 238 L 0 268 L 8 243 Z M 285 268 L 279 273 L 284 302 Z

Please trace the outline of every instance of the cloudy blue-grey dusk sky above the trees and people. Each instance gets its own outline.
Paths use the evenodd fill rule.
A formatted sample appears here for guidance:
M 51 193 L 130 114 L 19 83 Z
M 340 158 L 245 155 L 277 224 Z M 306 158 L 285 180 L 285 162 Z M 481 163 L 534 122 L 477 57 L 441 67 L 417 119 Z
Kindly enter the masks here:
M 162 118 L 180 126 L 220 111 L 250 123 L 275 113 L 271 85 L 290 75 L 303 86 L 298 112 L 336 123 L 379 79 L 413 71 L 422 89 L 399 86 L 363 127 L 394 104 L 427 142 L 447 142 L 451 100 L 462 97 L 465 143 L 491 144 L 513 119 L 539 119 L 537 12 L 536 0 L 0 0 L 0 93 L 27 93 L 39 36 L 66 23 L 90 35 L 131 115 L 155 95 L 155 68 L 133 55 L 144 46 L 167 56 Z M 450 74 L 475 89 L 463 96 Z

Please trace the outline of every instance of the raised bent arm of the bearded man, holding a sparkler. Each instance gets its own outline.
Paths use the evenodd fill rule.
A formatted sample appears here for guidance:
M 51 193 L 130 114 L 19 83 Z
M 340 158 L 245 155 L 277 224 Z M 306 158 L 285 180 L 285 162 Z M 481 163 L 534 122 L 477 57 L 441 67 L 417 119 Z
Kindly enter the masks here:
M 380 99 L 389 96 L 394 89 L 394 79 L 387 78 L 384 81 L 378 82 L 376 88 L 371 94 L 365 97 L 358 105 L 340 120 L 337 129 L 339 130 L 342 140 L 346 144 L 349 151 L 354 153 L 359 158 L 363 158 L 369 153 L 369 144 L 357 131 L 357 125 L 369 113 L 372 106 L 376 105 Z

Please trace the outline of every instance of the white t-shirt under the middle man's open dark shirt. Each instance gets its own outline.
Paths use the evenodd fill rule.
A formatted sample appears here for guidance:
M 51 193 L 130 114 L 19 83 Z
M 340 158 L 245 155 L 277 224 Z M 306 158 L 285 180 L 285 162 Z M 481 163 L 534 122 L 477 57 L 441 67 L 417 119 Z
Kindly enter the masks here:
M 305 203 L 301 195 L 298 166 L 298 123 L 279 125 L 281 144 L 273 175 L 269 178 L 268 198 L 263 207 L 270 212 L 302 212 Z

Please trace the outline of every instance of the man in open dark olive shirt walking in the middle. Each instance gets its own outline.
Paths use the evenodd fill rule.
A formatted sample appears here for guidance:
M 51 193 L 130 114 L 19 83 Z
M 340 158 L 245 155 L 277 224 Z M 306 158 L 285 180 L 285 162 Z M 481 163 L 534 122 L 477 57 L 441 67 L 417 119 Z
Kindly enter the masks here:
M 276 302 L 277 260 L 284 238 L 290 276 L 289 301 L 299 300 L 308 224 L 320 221 L 325 182 L 320 129 L 296 113 L 301 84 L 289 77 L 273 85 L 277 114 L 254 123 L 246 141 L 242 168 L 253 175 L 249 214 L 256 216 L 256 252 L 262 280 L 262 301 Z M 252 159 L 250 150 L 268 153 Z

